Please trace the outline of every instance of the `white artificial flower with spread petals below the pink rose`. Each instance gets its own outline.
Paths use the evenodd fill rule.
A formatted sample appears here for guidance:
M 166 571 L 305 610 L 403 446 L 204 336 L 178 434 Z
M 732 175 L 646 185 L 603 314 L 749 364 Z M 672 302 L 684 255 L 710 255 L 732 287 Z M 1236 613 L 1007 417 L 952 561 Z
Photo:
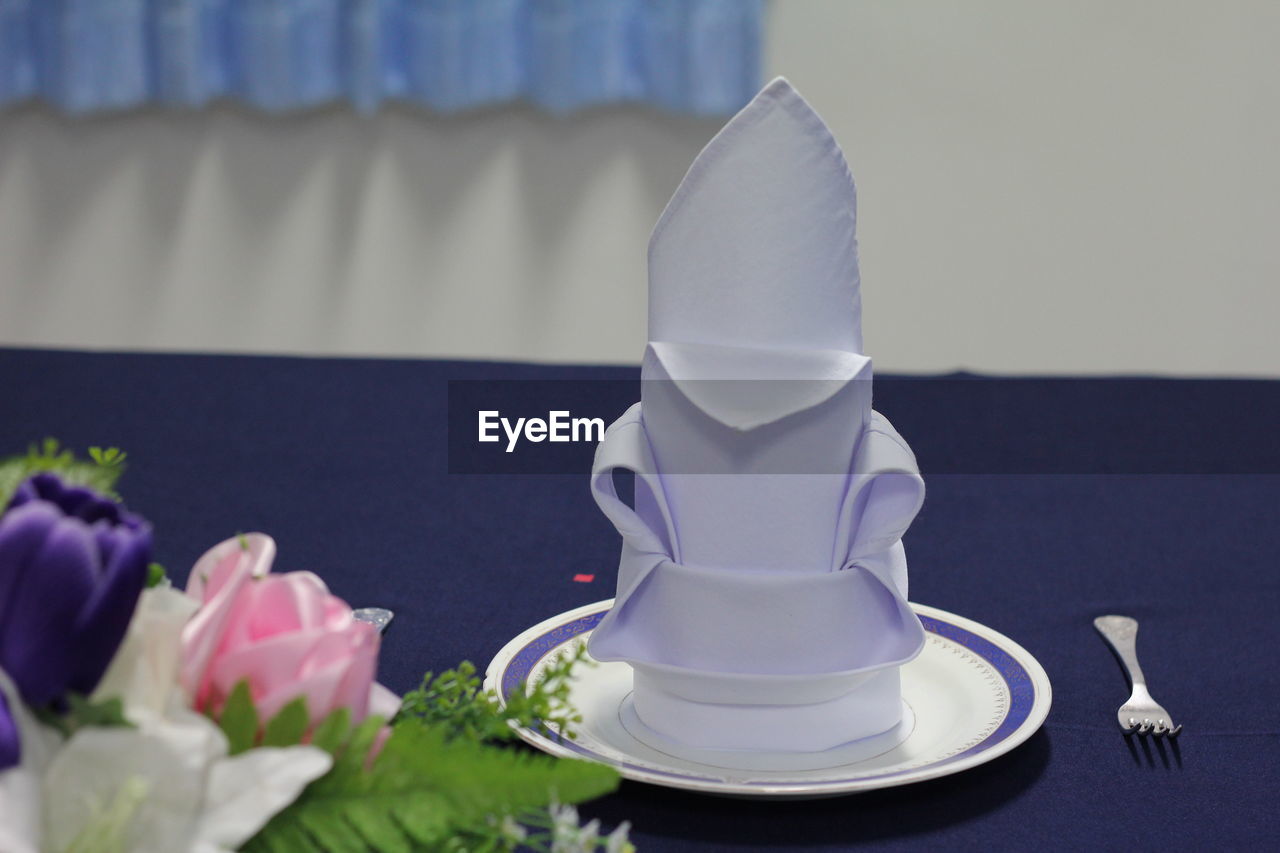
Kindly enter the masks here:
M 44 772 L 44 845 L 56 853 L 221 853 L 252 838 L 333 760 L 317 747 L 228 756 L 186 707 L 179 635 L 189 598 L 147 589 L 95 699 L 120 698 L 134 727 L 77 730 Z M 9 848 L 0 848 L 8 850 Z

